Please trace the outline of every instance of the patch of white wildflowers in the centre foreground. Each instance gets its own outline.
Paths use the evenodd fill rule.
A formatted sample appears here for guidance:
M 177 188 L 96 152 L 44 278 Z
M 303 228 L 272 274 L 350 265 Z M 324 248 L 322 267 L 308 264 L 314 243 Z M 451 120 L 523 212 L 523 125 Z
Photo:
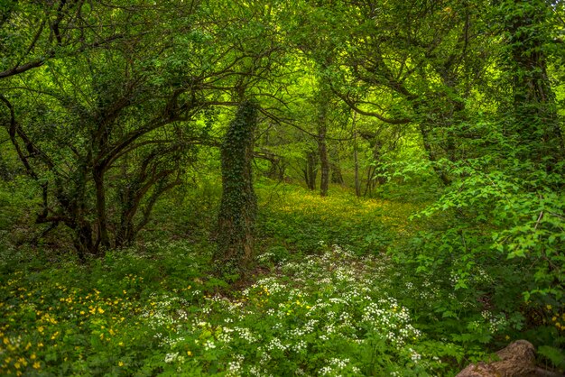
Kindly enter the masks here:
M 379 290 L 386 262 L 360 259 L 334 245 L 301 262 L 280 263 L 239 296 L 205 296 L 190 320 L 176 315 L 178 308 L 172 310 L 188 303 L 171 298 L 152 300 L 153 317 L 148 318 L 158 326 L 171 326 L 170 339 L 183 339 L 161 342 L 168 354 L 181 353 L 184 339 L 193 338 L 194 352 L 222 357 L 228 375 L 280 375 L 289 370 L 362 375 L 367 366 L 355 353 L 373 352 L 375 336 L 384 339 L 385 352 L 390 353 L 386 357 L 405 355 L 398 362 L 413 363 L 423 356 L 408 351 L 409 345 L 419 341 L 421 332 L 412 325 L 409 310 Z M 356 351 L 344 354 L 348 348 Z M 311 354 L 320 354 L 318 362 L 311 362 Z

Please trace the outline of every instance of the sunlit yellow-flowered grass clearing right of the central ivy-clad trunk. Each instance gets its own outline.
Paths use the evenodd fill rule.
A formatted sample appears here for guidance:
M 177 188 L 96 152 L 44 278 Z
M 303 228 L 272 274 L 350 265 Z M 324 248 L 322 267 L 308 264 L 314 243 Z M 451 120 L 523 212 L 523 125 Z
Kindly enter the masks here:
M 262 186 L 258 194 L 259 235 L 305 253 L 318 250 L 319 240 L 360 254 L 381 253 L 422 227 L 420 219 L 410 219 L 421 203 L 356 198 L 338 187 L 327 197 L 295 186 Z

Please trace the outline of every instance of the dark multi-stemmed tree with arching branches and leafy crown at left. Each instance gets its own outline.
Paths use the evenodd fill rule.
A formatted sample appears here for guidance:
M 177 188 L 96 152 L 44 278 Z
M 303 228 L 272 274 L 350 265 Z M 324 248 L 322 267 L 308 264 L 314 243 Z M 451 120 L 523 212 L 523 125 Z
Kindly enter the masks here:
M 181 182 L 182 162 L 206 138 L 186 125 L 217 102 L 209 81 L 233 75 L 229 59 L 240 59 L 204 48 L 212 36 L 190 19 L 199 8 L 175 8 L 178 18 L 172 8 L 143 11 L 154 23 L 129 23 L 131 39 L 52 57 L 2 81 L 6 131 L 42 189 L 36 222 L 67 225 L 81 261 L 131 243 L 155 201 Z M 122 11 L 97 15 L 115 14 Z

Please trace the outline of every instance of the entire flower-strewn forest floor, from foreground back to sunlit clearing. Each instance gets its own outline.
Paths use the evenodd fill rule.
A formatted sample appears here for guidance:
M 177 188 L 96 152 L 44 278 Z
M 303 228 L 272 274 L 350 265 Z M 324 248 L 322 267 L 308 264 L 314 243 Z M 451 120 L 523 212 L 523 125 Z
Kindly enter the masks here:
M 396 261 L 434 226 L 409 220 L 422 203 L 258 194 L 245 284 L 212 275 L 213 193 L 164 204 L 143 242 L 87 264 L 50 244 L 2 245 L 0 374 L 454 375 L 485 355 L 486 342 L 449 334 L 465 336 L 445 304 L 460 301 L 453 276 Z M 478 318 L 469 334 L 502 321 Z

